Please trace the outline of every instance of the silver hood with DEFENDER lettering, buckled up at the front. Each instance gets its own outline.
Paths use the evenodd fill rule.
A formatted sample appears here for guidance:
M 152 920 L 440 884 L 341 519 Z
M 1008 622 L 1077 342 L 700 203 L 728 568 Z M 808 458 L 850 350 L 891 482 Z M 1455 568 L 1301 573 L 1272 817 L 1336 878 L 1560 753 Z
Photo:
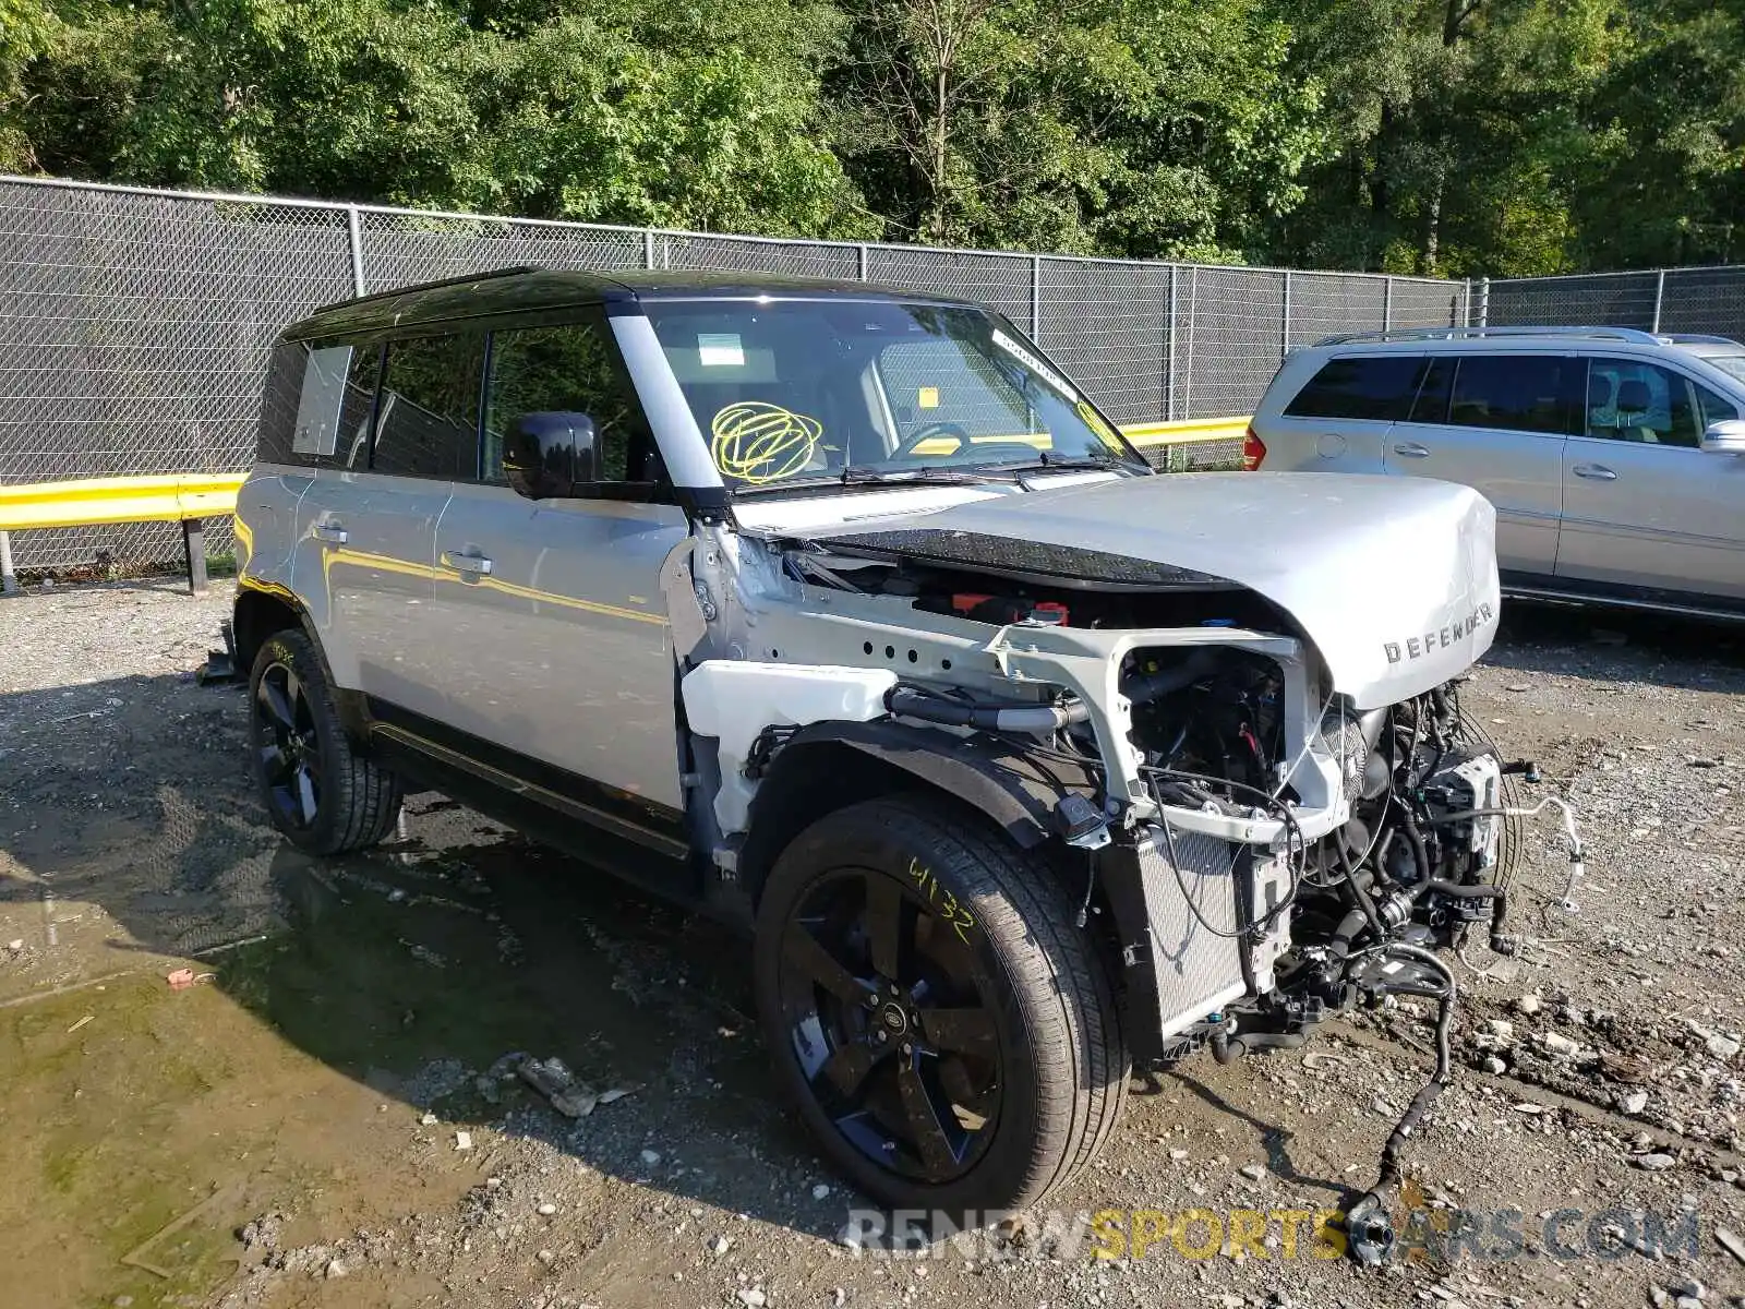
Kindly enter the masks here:
M 991 496 L 808 536 L 874 527 L 899 550 L 906 532 L 967 532 L 1239 583 L 1297 621 L 1333 689 L 1358 709 L 1464 672 L 1490 648 L 1501 607 L 1490 501 L 1429 478 L 1174 473 Z

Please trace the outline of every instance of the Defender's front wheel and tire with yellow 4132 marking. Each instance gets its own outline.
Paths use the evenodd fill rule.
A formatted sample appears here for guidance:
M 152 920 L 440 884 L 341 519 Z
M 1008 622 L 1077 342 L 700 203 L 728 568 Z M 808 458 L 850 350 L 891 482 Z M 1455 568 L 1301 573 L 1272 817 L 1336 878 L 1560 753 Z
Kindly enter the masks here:
M 1056 874 L 942 799 L 801 833 L 763 892 L 756 984 L 782 1089 L 890 1208 L 1028 1208 L 1120 1115 L 1108 977 Z

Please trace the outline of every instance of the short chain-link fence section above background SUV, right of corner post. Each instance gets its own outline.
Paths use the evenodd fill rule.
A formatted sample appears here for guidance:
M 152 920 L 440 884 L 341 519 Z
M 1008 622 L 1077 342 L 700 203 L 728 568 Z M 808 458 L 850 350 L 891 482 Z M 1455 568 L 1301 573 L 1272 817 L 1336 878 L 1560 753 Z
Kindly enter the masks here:
M 1745 340 L 1745 265 L 1473 283 L 1485 326 L 1633 326 Z

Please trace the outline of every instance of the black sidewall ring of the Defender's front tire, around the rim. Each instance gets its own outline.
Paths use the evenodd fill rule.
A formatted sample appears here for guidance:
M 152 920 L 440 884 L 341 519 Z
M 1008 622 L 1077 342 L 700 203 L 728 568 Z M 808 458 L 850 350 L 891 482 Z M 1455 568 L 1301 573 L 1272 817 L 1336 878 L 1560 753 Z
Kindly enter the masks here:
M 1038 997 L 1024 995 L 1014 984 L 1014 974 L 1002 955 L 1010 942 L 988 930 L 977 932 L 974 942 L 975 981 L 982 988 L 982 1004 L 993 1012 L 1000 1047 L 1002 1094 L 995 1136 L 968 1173 L 944 1183 L 927 1183 L 878 1168 L 838 1131 L 801 1072 L 782 1012 L 782 929 L 818 880 L 834 869 L 872 869 L 890 876 L 907 899 L 925 906 L 925 899 L 913 890 L 914 883 L 904 876 L 911 860 L 921 860 L 944 890 L 972 909 L 977 923 L 988 923 L 984 908 L 1000 897 L 989 894 L 986 885 L 965 885 L 958 869 L 941 859 L 942 852 L 921 840 L 925 834 L 914 810 L 881 801 L 839 810 L 801 833 L 782 852 L 764 883 L 757 908 L 754 974 L 759 1019 L 771 1047 L 777 1079 L 831 1162 L 881 1204 L 941 1210 L 961 1225 L 967 1211 L 979 1215 L 1024 1194 L 1035 1173 L 1040 1087 L 1026 1002 L 1037 1004 Z

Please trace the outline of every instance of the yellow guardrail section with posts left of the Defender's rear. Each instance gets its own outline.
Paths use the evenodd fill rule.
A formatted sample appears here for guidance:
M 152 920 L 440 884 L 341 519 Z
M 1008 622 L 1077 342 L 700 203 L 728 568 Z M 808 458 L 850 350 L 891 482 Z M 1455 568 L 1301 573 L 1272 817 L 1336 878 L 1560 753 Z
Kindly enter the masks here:
M 188 555 L 188 590 L 206 590 L 204 518 L 236 513 L 248 473 L 159 473 L 87 476 L 72 482 L 0 485 L 0 588 L 17 586 L 7 532 L 30 527 L 98 527 L 112 522 L 180 522 Z

